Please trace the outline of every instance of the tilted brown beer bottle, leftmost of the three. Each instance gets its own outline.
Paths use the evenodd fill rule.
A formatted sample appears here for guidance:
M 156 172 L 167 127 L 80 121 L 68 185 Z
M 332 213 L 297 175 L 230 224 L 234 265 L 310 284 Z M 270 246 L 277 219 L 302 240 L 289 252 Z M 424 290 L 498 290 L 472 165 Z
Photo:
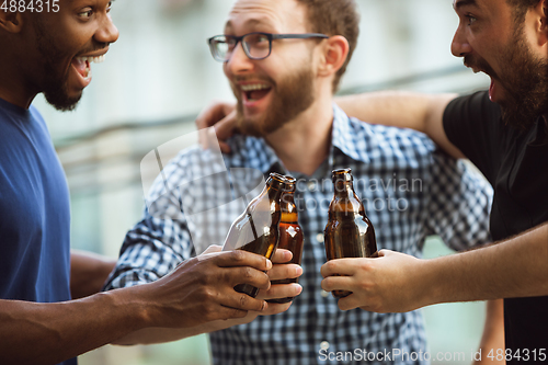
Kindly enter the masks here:
M 244 250 L 272 258 L 279 243 L 279 199 L 285 184 L 283 175 L 271 173 L 261 194 L 230 226 L 222 251 Z M 253 298 L 259 293 L 259 288 L 248 284 L 239 284 L 235 289 Z

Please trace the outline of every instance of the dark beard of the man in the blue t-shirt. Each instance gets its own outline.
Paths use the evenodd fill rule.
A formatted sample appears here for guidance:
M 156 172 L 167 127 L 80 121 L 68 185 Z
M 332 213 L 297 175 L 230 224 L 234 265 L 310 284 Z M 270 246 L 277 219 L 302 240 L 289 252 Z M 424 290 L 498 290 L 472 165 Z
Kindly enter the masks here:
M 56 43 L 48 38 L 48 33 L 41 20 L 36 20 L 35 25 L 38 52 L 44 59 L 42 75 L 45 77 L 45 82 L 42 92 L 46 101 L 56 110 L 61 112 L 73 111 L 82 98 L 82 93 L 75 98 L 69 96 L 67 90 L 69 71 L 67 70 L 65 75 L 60 75 L 54 67 L 59 59 L 62 59 L 62 53 L 56 47 Z

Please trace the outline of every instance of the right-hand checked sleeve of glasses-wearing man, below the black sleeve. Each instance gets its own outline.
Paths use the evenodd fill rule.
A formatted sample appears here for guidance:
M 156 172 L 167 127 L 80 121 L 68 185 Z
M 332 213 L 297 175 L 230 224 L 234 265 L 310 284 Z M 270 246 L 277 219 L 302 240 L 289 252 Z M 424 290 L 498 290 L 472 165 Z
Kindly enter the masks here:
M 475 168 L 443 152 L 433 153 L 426 226 L 453 250 L 491 241 L 489 214 L 493 190 Z

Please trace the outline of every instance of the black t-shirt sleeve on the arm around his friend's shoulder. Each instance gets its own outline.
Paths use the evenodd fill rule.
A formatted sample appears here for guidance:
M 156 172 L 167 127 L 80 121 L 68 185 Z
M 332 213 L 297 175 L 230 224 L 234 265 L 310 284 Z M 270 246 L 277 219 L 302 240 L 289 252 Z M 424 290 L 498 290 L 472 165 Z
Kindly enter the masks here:
M 452 101 L 444 113 L 447 138 L 493 184 L 496 178 L 496 157 L 501 140 L 501 110 L 489 100 L 487 91 Z

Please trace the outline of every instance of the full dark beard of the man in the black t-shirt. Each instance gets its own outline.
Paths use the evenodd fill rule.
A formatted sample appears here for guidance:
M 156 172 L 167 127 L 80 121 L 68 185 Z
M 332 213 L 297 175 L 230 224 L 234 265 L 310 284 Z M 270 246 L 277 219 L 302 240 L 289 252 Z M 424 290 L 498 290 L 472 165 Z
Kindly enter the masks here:
M 518 129 L 529 129 L 538 116 L 548 112 L 548 62 L 529 49 L 523 24 L 515 26 L 501 55 L 500 75 L 482 58 L 467 56 L 465 64 L 482 69 L 505 89 L 507 98 L 500 102 L 503 122 Z

